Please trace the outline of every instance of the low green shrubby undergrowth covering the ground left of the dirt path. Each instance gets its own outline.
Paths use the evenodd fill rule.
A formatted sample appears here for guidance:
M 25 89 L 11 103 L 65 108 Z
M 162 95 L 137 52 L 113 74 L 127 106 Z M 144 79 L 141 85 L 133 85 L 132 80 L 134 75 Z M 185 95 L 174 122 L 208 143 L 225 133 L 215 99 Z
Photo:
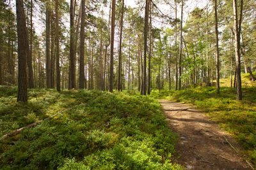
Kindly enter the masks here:
M 177 134 L 156 99 L 134 92 L 0 87 L 0 136 L 55 117 L 0 141 L 0 169 L 183 169 L 171 162 Z

